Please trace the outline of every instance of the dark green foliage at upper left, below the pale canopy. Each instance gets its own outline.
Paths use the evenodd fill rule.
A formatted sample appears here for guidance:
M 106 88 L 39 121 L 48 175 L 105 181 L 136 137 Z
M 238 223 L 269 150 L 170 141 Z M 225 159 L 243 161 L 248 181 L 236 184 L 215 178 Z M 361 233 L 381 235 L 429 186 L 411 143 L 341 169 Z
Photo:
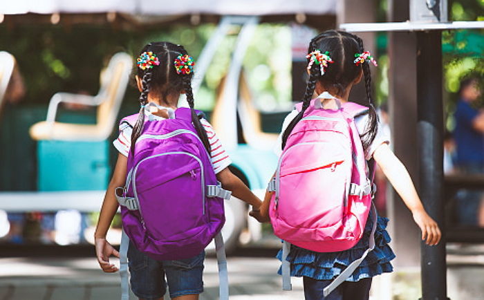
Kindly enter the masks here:
M 13 28 L 3 25 L 0 26 L 0 49 L 17 59 L 27 87 L 24 104 L 46 104 L 59 91 L 95 94 L 100 71 L 114 53 L 124 51 L 134 57 L 149 41 L 183 44 L 197 56 L 213 27 L 208 24 L 117 30 L 109 24 L 69 27 L 26 24 Z

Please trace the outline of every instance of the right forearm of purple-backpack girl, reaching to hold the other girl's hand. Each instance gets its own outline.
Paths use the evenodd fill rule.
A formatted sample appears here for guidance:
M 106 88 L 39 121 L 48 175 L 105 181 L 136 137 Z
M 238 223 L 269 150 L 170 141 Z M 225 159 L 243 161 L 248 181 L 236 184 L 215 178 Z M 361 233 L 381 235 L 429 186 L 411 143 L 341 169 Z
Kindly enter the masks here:
M 229 168 L 225 168 L 217 173 L 217 180 L 222 183 L 222 187 L 232 191 L 232 196 L 241 199 L 243 202 L 252 205 L 255 209 L 261 206 L 262 201 L 250 191 L 239 177 L 232 174 Z

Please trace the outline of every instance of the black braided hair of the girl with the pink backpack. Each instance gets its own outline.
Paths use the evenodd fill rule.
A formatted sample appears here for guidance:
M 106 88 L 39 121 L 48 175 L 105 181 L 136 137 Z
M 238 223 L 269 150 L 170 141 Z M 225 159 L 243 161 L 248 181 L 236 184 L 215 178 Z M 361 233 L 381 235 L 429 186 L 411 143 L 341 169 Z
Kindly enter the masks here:
M 378 115 L 373 105 L 371 97 L 371 73 L 368 62 L 364 62 L 356 66 L 354 64 L 355 54 L 363 53 L 363 41 L 357 35 L 349 32 L 339 30 L 327 30 L 320 33 L 311 39 L 308 47 L 308 53 L 314 50 L 321 50 L 322 53 L 329 52 L 329 56 L 333 60 L 326 69 L 324 75 L 321 75 L 319 64 L 313 64 L 309 71 L 308 84 L 306 86 L 306 93 L 304 93 L 303 105 L 301 111 L 289 123 L 286 131 L 282 135 L 282 149 L 286 147 L 286 141 L 294 129 L 294 126 L 303 118 L 304 111 L 309 107 L 310 101 L 313 98 L 313 93 L 316 88 L 316 83 L 319 82 L 325 87 L 334 88 L 338 94 L 343 93 L 344 90 L 360 76 L 363 71 L 364 84 L 366 89 L 366 97 L 369 104 L 369 122 L 366 125 L 366 131 L 360 135 L 364 149 L 368 149 L 371 142 L 375 139 L 378 130 Z M 309 58 L 310 59 L 310 58 Z M 309 63 L 308 59 L 308 63 Z

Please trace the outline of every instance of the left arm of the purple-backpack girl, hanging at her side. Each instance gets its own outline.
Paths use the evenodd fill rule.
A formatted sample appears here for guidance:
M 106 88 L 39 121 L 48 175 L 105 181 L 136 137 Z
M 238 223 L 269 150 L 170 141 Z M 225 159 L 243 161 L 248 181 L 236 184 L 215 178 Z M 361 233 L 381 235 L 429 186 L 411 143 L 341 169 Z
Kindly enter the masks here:
M 109 225 L 111 225 L 111 221 L 113 221 L 114 215 L 118 211 L 118 200 L 115 198 L 114 189 L 124 186 L 126 172 L 127 157 L 120 153 L 118 154 L 118 162 L 116 162 L 113 178 L 111 178 L 111 182 L 109 182 L 108 189 L 104 195 L 104 201 L 102 202 L 99 220 L 97 221 L 97 227 L 94 233 L 97 262 L 104 272 L 109 273 L 118 271 L 118 268 L 113 263 L 109 263 L 109 256 L 114 255 L 119 257 L 120 254 L 106 241 L 106 233 L 108 232 Z

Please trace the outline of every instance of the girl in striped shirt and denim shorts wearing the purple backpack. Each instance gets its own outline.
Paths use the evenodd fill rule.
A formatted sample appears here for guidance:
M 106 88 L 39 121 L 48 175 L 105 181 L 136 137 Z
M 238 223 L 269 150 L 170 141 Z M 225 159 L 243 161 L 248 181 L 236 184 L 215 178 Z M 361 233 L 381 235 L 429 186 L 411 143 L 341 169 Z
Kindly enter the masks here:
M 197 149 L 202 149 L 202 152 L 204 153 L 201 153 L 200 155 L 204 157 L 197 158 L 193 154 L 183 152 L 183 160 L 181 158 L 175 158 L 175 156 L 172 156 L 171 160 L 165 160 L 165 162 L 163 162 L 161 166 L 159 163 L 158 165 L 156 165 L 156 162 L 154 162 L 153 160 L 153 162 L 151 162 L 151 165 L 149 165 L 148 167 L 148 171 L 145 172 L 151 171 L 149 170 L 149 168 L 153 168 L 153 170 L 155 170 L 156 168 L 164 167 L 163 165 L 169 165 L 169 163 L 172 163 L 174 160 L 178 159 L 186 163 L 180 163 L 180 165 L 175 166 L 175 168 L 170 171 L 171 173 L 176 173 L 177 171 L 179 171 L 180 174 L 177 175 L 177 178 L 186 178 L 185 182 L 187 182 L 186 180 L 194 180 L 194 182 L 196 182 L 196 180 L 200 180 L 200 178 L 203 182 L 205 176 L 206 183 L 208 180 L 210 180 L 210 178 L 207 178 L 207 176 L 210 177 L 210 174 L 207 175 L 206 172 L 205 174 L 200 173 L 200 169 L 205 168 L 203 167 L 202 163 L 200 163 L 201 167 L 192 167 L 192 169 L 187 169 L 185 171 L 182 170 L 183 168 L 186 169 L 187 167 L 189 167 L 189 163 L 192 165 L 196 165 L 196 163 L 194 164 L 194 162 L 201 162 L 206 156 L 208 160 L 207 165 L 210 168 L 213 167 L 213 170 L 210 170 L 212 172 L 213 180 L 215 180 L 216 174 L 216 180 L 221 182 L 221 187 L 212 185 L 214 191 L 222 191 L 222 189 L 227 189 L 229 191 L 232 191 L 233 196 L 245 201 L 249 205 L 252 205 L 255 209 L 258 209 L 261 205 L 261 200 L 259 200 L 257 196 L 252 194 L 252 191 L 250 191 L 250 189 L 248 189 L 248 187 L 246 187 L 243 182 L 239 178 L 234 176 L 234 174 L 232 174 L 232 172 L 228 169 L 228 166 L 231 164 L 231 160 L 225 152 L 221 141 L 218 140 L 214 129 L 207 122 L 207 120 L 202 118 L 201 115 L 194 110 L 194 96 L 192 93 L 191 85 L 194 61 L 192 57 L 188 55 L 185 48 L 183 48 L 183 46 L 171 44 L 169 42 L 156 41 L 149 43 L 144 48 L 142 48 L 140 57 L 138 57 L 137 65 L 136 82 L 138 85 L 138 89 L 141 93 L 139 98 L 141 104 L 140 113 L 138 115 L 131 115 L 127 118 L 124 118 L 120 123 L 120 135 L 118 139 L 113 142 L 115 148 L 118 149 L 118 151 L 120 152 L 118 155 L 118 162 L 115 165 L 113 178 L 111 179 L 109 187 L 106 190 L 106 195 L 104 196 L 104 202 L 102 204 L 99 221 L 97 223 L 97 228 L 95 231 L 95 250 L 97 255 L 97 261 L 100 264 L 100 268 L 102 268 L 104 272 L 118 271 L 118 268 L 116 268 L 113 263 L 110 263 L 109 256 L 113 255 L 120 257 L 120 253 L 115 250 L 115 248 L 112 247 L 108 243 L 108 241 L 106 241 L 106 232 L 109 229 L 111 221 L 113 220 L 113 216 L 118 210 L 118 201 L 120 196 L 118 194 L 115 194 L 118 192 L 115 190 L 118 189 L 118 187 L 125 186 L 127 176 L 129 180 L 131 180 L 131 174 L 127 173 L 133 157 L 136 160 L 136 155 L 142 155 L 142 153 L 136 153 L 137 151 L 139 151 L 139 145 L 142 144 L 142 142 L 149 140 L 150 137 L 156 138 L 156 135 L 153 135 L 153 126 L 165 128 L 166 126 L 168 126 L 167 124 L 185 124 L 185 126 L 188 126 L 187 129 L 178 129 L 172 133 L 169 133 L 168 135 L 165 135 L 167 136 L 167 143 L 173 144 L 174 142 L 171 141 L 171 138 L 175 138 L 175 135 L 177 134 L 180 141 L 182 141 L 182 144 L 180 144 L 179 146 L 169 146 L 175 147 L 174 149 L 176 149 L 176 151 L 171 153 L 180 154 L 182 153 L 182 151 L 186 150 L 185 148 L 188 147 L 190 149 L 186 151 L 198 151 Z M 177 108 L 178 97 L 180 97 L 180 93 L 185 93 L 185 95 L 187 96 L 187 102 L 190 109 Z M 151 131 L 149 131 L 150 128 Z M 147 135 L 147 133 L 151 133 L 151 135 L 146 137 L 145 135 Z M 159 136 L 161 135 L 158 135 L 158 139 Z M 192 139 L 192 141 L 195 140 L 195 142 L 198 141 L 198 147 L 197 144 L 190 144 L 190 139 Z M 137 140 L 138 143 L 136 143 Z M 151 140 L 151 142 L 154 143 L 156 142 L 156 140 Z M 210 151 L 207 153 L 207 150 L 205 149 L 210 149 Z M 143 150 L 146 152 L 150 151 L 151 149 Z M 156 156 L 158 158 L 162 158 L 165 154 L 167 153 L 160 153 Z M 134 170 L 134 172 L 136 173 L 136 169 Z M 157 174 L 155 176 L 166 177 L 169 175 L 167 173 L 169 172 L 152 171 L 151 177 L 153 176 L 152 174 Z M 136 174 L 134 174 L 133 176 L 135 175 Z M 147 180 L 150 180 L 150 178 L 147 178 Z M 167 181 L 166 178 L 164 179 L 164 181 L 165 184 L 166 182 L 174 182 L 174 180 L 171 179 Z M 141 185 L 141 183 L 138 181 L 137 184 Z M 188 182 L 188 184 L 190 184 L 190 182 Z M 142 206 L 142 197 L 140 196 L 142 191 L 140 187 L 138 188 L 139 189 L 138 195 L 136 196 L 136 201 L 138 201 L 138 206 Z M 156 188 L 157 187 L 153 187 L 152 190 Z M 203 187 L 203 189 L 204 188 L 205 187 Z M 171 189 L 169 193 L 171 192 L 178 193 L 176 195 L 183 195 L 186 191 L 173 191 L 173 189 Z M 198 191 L 194 191 L 194 193 L 199 192 L 199 189 Z M 126 189 L 124 190 L 124 193 L 126 193 Z M 204 229 L 205 231 L 201 234 L 204 234 L 209 229 L 213 229 L 213 231 L 219 232 L 221 225 L 223 225 L 223 220 L 225 220 L 223 218 L 223 210 L 221 210 L 221 212 L 210 212 L 210 204 L 206 203 L 223 203 L 223 199 L 221 198 L 222 196 L 214 194 L 214 196 L 212 196 L 213 198 L 205 198 L 205 196 L 210 197 L 208 194 L 209 191 L 203 190 L 203 203 L 205 205 L 203 207 L 203 216 L 195 216 L 194 218 L 205 220 L 205 223 L 207 223 L 207 218 L 212 218 L 214 215 L 218 214 L 218 218 L 222 221 L 217 220 L 218 223 L 216 223 L 216 228 L 207 227 L 208 229 Z M 230 193 L 225 193 L 225 196 L 227 195 L 230 196 Z M 166 194 L 155 196 L 156 198 L 151 199 L 155 199 L 161 202 L 167 202 L 167 205 L 169 207 L 176 206 L 178 205 L 178 203 L 186 203 L 187 205 L 193 205 L 193 203 L 195 203 L 195 208 L 198 209 L 198 204 L 196 204 L 196 201 L 198 199 L 183 199 L 183 196 L 180 196 L 179 198 L 177 198 L 176 196 L 170 196 L 170 199 L 166 199 Z M 134 198 L 128 199 L 133 200 Z M 127 207 L 129 207 L 129 205 Z M 130 210 L 133 208 L 127 207 L 122 206 L 123 228 L 127 231 L 128 236 L 130 236 L 131 234 L 131 240 L 131 237 L 136 234 L 136 228 L 138 228 L 136 226 L 138 226 L 138 224 L 125 223 L 125 217 L 127 217 L 128 221 L 131 217 L 136 218 L 136 216 L 140 216 L 140 214 L 142 213 L 142 209 L 140 209 L 140 213 L 138 214 L 137 210 Z M 205 214 L 205 209 L 207 209 L 208 215 Z M 200 210 L 202 209 L 200 208 Z M 165 212 L 165 214 L 164 212 L 156 212 L 154 216 L 158 219 L 174 220 L 171 221 L 171 224 L 169 224 L 169 226 L 175 227 L 179 224 L 182 224 L 185 218 L 192 217 L 192 209 L 187 209 L 185 210 L 185 212 L 182 212 L 178 216 L 167 216 L 168 213 L 169 212 Z M 149 221 L 147 220 L 146 215 L 145 221 Z M 197 220 L 195 220 L 194 222 L 196 221 Z M 205 223 L 203 223 L 203 226 L 205 226 Z M 214 222 L 211 221 L 211 223 Z M 139 226 L 140 228 L 141 226 L 145 227 L 145 222 L 143 221 L 142 224 Z M 146 226 L 148 227 L 147 224 Z M 165 228 L 157 228 L 156 230 L 151 229 L 151 232 L 149 232 L 150 228 L 148 228 L 149 233 L 145 235 L 144 239 L 150 240 L 151 238 L 153 238 L 153 236 L 156 235 L 158 231 L 162 231 L 163 229 Z M 178 230 L 177 228 L 174 228 L 173 230 L 176 231 L 176 234 L 178 234 L 178 236 L 180 234 L 185 234 L 183 229 L 181 229 L 181 232 L 179 228 Z M 198 236 L 201 234 L 198 234 Z M 209 238 L 213 238 L 213 236 L 209 236 Z M 185 239 L 194 240 L 196 238 L 189 237 Z M 136 243 L 134 242 L 137 242 L 138 245 L 142 245 L 144 248 L 139 250 L 139 246 L 137 247 Z M 159 260 L 153 259 L 153 256 L 163 257 L 163 253 L 159 253 L 159 255 L 156 255 L 156 251 L 154 250 L 158 248 L 154 247 L 154 244 L 142 244 L 144 242 L 145 241 L 138 242 L 131 240 L 129 243 L 129 250 L 127 256 L 129 258 L 131 290 L 133 291 L 133 293 L 136 294 L 136 296 L 140 299 L 163 299 L 168 285 L 171 299 L 198 299 L 198 294 L 203 292 L 202 274 L 203 261 L 205 258 L 205 252 L 203 251 L 203 248 L 202 250 L 199 250 L 198 247 L 193 247 L 193 249 L 197 250 L 192 250 L 192 252 L 196 252 L 193 254 L 189 254 L 191 256 L 185 257 L 184 259 Z M 187 247 L 180 249 L 180 253 L 183 251 L 187 251 Z M 149 253 L 149 255 L 147 255 L 146 253 Z M 176 256 L 176 253 L 173 255 Z

